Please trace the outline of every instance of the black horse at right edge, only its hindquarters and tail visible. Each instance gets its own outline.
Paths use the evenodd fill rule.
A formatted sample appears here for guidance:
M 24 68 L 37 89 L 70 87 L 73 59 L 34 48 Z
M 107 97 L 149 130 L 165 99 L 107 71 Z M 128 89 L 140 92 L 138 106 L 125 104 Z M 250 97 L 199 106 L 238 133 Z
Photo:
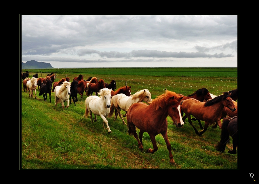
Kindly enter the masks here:
M 216 145 L 216 150 L 223 153 L 226 149 L 226 143 L 229 140 L 229 135 L 232 137 L 233 150 L 229 150 L 228 153 L 236 154 L 236 148 L 238 145 L 238 133 L 237 133 L 237 116 L 227 117 L 223 119 L 221 127 L 220 142 Z

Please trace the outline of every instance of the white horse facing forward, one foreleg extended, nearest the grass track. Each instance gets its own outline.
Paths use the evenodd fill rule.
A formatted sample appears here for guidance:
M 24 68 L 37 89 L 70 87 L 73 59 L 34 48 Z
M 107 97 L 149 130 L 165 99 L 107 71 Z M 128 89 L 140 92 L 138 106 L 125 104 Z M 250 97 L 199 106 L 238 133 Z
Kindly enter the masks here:
M 96 121 L 96 115 L 100 116 L 103 119 L 103 128 L 108 129 L 108 133 L 111 133 L 111 129 L 108 125 L 108 120 L 106 117 L 108 116 L 110 112 L 110 106 L 111 106 L 111 89 L 103 88 L 101 89 L 98 94 L 98 96 L 89 96 L 85 99 L 85 114 L 84 117 L 87 118 L 88 114 L 90 114 L 91 121 L 93 123 L 93 117 L 92 113 L 94 113 L 94 121 Z M 105 124 L 104 124 L 105 123 Z

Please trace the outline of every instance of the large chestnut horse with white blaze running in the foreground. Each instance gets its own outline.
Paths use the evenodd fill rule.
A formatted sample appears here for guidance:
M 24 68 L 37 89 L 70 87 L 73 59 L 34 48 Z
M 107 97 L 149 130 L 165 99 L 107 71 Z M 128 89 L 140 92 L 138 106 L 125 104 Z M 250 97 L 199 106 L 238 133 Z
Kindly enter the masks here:
M 128 109 L 127 127 L 128 133 L 133 134 L 138 141 L 138 148 L 143 150 L 142 137 L 143 133 L 147 132 L 153 144 L 153 150 L 149 148 L 148 153 L 157 151 L 157 144 L 155 136 L 161 133 L 164 137 L 167 149 L 169 151 L 170 163 L 175 164 L 173 159 L 171 144 L 167 137 L 167 116 L 169 115 L 174 121 L 177 128 L 184 125 L 181 116 L 180 101 L 183 97 L 178 96 L 175 92 L 166 91 L 155 98 L 150 105 L 143 102 L 134 103 Z M 139 139 L 136 133 L 136 127 L 140 129 Z

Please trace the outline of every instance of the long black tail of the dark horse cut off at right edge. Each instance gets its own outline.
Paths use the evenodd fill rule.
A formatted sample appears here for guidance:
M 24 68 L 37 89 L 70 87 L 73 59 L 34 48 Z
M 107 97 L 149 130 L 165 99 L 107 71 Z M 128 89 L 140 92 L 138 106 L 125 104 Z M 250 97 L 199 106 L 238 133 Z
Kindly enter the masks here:
M 226 143 L 229 139 L 229 133 L 228 133 L 228 123 L 229 118 L 224 118 L 222 127 L 221 127 L 221 134 L 220 134 L 220 142 L 216 145 L 216 150 L 223 153 L 226 149 Z

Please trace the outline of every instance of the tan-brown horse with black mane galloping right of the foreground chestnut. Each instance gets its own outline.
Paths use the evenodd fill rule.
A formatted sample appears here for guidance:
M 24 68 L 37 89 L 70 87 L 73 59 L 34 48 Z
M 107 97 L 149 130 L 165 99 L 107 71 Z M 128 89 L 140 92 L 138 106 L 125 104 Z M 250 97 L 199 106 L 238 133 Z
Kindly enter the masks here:
M 195 133 L 201 136 L 211 123 L 216 122 L 221 128 L 220 119 L 224 106 L 229 108 L 231 111 L 236 110 L 233 100 L 230 98 L 227 92 L 212 100 L 207 100 L 206 102 L 200 102 L 194 98 L 182 100 L 182 111 L 185 113 L 183 119 L 188 117 L 188 122 L 194 128 Z M 193 126 L 191 115 L 205 122 L 203 131 L 198 132 L 197 129 Z

